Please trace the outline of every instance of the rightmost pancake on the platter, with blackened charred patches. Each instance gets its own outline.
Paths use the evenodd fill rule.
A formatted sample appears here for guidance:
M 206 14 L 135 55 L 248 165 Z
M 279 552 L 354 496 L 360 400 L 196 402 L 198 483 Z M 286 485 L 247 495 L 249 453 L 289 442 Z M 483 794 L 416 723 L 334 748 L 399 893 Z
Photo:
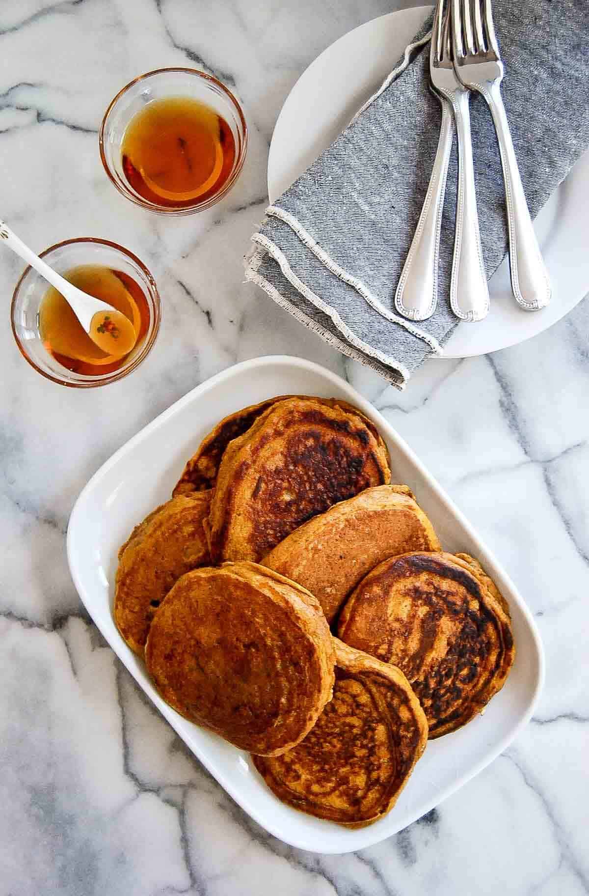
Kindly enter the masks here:
M 377 566 L 347 600 L 337 633 L 405 672 L 430 737 L 473 719 L 505 684 L 515 655 L 498 600 L 465 561 L 441 552 Z

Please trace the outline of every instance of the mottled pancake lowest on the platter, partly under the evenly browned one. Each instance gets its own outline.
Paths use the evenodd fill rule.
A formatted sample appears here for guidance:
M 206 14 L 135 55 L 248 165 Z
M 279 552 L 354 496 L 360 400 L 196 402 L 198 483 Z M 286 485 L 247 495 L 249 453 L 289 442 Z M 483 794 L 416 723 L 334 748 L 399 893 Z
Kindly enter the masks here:
M 397 802 L 427 742 L 411 685 L 389 663 L 336 643 L 336 684 L 307 737 L 277 758 L 254 756 L 288 806 L 361 828 Z

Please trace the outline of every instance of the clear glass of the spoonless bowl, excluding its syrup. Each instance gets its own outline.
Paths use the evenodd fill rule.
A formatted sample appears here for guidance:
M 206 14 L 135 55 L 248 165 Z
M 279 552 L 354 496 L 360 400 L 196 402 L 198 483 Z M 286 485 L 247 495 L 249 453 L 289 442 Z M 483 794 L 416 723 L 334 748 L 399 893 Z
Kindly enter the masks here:
M 193 205 L 179 208 L 159 205 L 158 202 L 149 202 L 149 199 L 145 199 L 144 196 L 133 190 L 124 176 L 123 170 L 123 137 L 132 117 L 154 99 L 169 97 L 190 97 L 213 108 L 219 116 L 225 118 L 235 140 L 233 169 L 218 193 L 209 196 L 203 202 L 195 201 Z M 233 93 L 231 90 L 227 90 L 225 84 L 222 84 L 217 78 L 195 68 L 158 68 L 155 72 L 141 74 L 139 78 L 135 78 L 134 81 L 127 84 L 123 90 L 119 90 L 102 119 L 99 139 L 100 159 L 102 159 L 105 171 L 116 189 L 127 199 L 136 202 L 144 209 L 156 211 L 158 214 L 190 215 L 195 211 L 203 211 L 214 205 L 235 184 L 245 160 L 247 125 L 242 108 Z

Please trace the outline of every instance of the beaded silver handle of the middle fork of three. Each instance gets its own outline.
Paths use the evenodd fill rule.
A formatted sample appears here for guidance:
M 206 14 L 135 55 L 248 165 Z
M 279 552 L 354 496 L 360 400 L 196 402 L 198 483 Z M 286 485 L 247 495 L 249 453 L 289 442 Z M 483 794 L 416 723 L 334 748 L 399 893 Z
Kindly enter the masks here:
M 479 216 L 474 190 L 469 90 L 448 94 L 457 125 L 458 193 L 450 306 L 462 321 L 481 321 L 489 312 L 489 287 L 482 259 Z

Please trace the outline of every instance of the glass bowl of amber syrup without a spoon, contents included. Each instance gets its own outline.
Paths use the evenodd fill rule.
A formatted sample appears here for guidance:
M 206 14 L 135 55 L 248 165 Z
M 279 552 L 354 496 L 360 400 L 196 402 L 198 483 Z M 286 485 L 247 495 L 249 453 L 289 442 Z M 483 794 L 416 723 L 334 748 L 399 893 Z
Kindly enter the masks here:
M 190 68 L 149 72 L 111 102 L 100 128 L 108 177 L 132 202 L 185 215 L 218 202 L 245 159 L 247 126 L 233 93 Z

